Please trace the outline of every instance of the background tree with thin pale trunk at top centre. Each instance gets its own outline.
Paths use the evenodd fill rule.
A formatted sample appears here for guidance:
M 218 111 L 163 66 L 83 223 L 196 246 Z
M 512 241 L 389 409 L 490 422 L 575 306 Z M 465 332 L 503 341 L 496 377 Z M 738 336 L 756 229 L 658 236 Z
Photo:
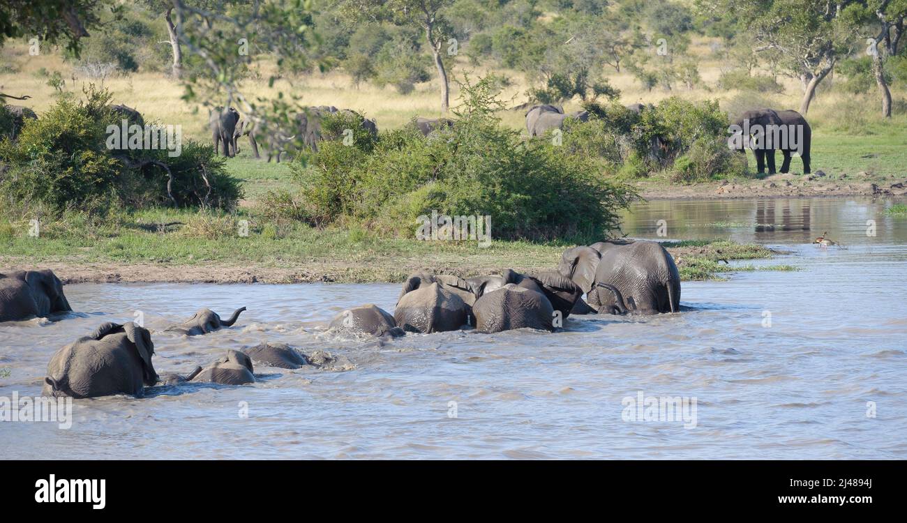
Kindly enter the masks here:
M 339 0 L 338 4 L 343 15 L 354 22 L 385 21 L 419 27 L 424 31 L 438 80 L 441 81 L 441 111 L 450 109 L 450 81 L 443 52 L 450 45 L 448 39 L 453 34 L 453 28 L 444 17 L 444 9 L 453 5 L 453 0 Z

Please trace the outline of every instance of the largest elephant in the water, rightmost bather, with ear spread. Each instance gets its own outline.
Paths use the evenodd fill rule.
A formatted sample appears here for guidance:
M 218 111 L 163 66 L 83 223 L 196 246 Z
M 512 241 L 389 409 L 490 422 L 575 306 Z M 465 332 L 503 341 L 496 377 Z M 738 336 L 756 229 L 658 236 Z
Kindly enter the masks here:
M 680 273 L 655 241 L 608 241 L 564 252 L 558 270 L 586 291 L 599 314 L 651 315 L 680 310 Z M 594 274 L 590 279 L 590 274 Z

